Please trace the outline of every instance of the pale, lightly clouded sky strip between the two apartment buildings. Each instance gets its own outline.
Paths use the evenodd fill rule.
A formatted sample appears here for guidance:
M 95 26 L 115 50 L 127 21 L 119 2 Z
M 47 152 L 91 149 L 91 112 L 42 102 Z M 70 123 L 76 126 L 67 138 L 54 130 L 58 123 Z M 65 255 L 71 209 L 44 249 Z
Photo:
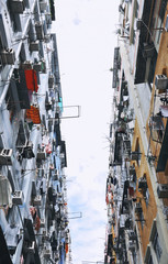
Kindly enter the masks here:
M 113 51 L 119 0 L 56 0 L 56 34 L 64 106 L 81 106 L 61 121 L 66 140 L 72 263 L 103 261 L 109 170 Z M 69 217 L 72 217 L 70 215 Z

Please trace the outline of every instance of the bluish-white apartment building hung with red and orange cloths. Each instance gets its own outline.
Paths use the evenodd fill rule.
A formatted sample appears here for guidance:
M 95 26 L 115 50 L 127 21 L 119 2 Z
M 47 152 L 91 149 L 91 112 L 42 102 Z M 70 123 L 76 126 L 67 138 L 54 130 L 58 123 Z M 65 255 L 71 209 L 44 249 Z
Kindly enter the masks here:
M 53 0 L 0 0 L 0 263 L 70 258 Z

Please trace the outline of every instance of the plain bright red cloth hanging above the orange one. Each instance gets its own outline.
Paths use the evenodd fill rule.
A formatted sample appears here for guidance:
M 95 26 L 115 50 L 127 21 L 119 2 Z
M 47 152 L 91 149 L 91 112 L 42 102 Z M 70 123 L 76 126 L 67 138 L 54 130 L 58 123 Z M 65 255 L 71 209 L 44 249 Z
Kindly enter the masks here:
M 36 72 L 34 69 L 25 69 L 24 74 L 27 89 L 37 92 L 38 86 Z

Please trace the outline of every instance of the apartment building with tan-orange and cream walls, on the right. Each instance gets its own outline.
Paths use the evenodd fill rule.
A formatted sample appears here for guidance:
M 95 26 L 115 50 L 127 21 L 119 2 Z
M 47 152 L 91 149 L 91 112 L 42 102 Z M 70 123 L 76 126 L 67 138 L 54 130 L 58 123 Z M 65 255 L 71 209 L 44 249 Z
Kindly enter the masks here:
M 104 263 L 168 263 L 168 3 L 121 1 Z

